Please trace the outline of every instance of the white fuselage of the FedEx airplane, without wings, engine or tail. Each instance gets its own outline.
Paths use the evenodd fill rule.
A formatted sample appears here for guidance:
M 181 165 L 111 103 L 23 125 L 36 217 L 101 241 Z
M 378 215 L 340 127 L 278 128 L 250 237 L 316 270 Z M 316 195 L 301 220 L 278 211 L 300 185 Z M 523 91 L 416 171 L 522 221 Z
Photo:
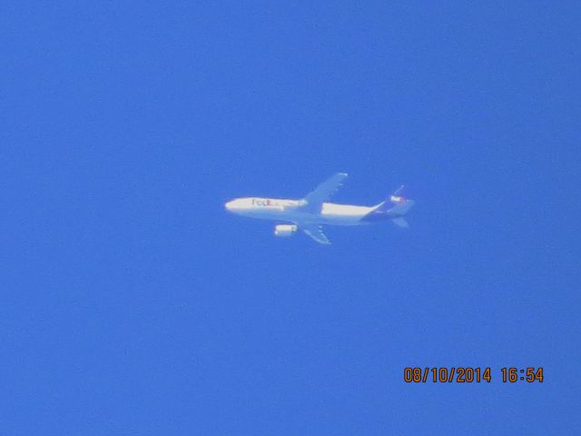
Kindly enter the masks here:
M 301 200 L 246 197 L 226 203 L 232 213 L 297 224 L 361 225 L 361 219 L 375 209 L 374 206 L 322 203 L 320 211 L 310 211 Z

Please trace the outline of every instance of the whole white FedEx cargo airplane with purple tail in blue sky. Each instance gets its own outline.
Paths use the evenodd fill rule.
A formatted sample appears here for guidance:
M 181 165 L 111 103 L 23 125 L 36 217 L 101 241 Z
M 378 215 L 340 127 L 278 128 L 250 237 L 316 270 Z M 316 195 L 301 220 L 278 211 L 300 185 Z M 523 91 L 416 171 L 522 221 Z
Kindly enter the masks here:
M 300 200 L 244 197 L 225 203 L 231 213 L 282 222 L 274 227 L 279 237 L 292 236 L 300 229 L 317 243 L 330 244 L 323 233 L 323 225 L 364 225 L 390 221 L 399 227 L 408 227 L 404 215 L 416 203 L 400 195 L 400 186 L 388 199 L 375 206 L 328 203 L 347 178 L 336 173 Z

